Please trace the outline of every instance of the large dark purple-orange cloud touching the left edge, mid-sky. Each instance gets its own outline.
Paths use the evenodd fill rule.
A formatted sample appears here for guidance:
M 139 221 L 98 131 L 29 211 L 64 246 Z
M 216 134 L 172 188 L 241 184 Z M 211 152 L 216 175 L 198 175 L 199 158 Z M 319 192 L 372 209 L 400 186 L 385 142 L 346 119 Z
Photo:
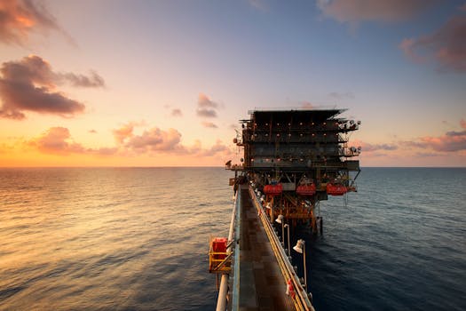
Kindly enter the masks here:
M 57 91 L 58 84 L 69 82 L 83 87 L 104 85 L 103 79 L 95 73 L 91 77 L 55 73 L 47 61 L 36 55 L 4 62 L 0 73 L 0 117 L 19 120 L 26 118 L 26 111 L 63 117 L 83 113 L 84 104 Z

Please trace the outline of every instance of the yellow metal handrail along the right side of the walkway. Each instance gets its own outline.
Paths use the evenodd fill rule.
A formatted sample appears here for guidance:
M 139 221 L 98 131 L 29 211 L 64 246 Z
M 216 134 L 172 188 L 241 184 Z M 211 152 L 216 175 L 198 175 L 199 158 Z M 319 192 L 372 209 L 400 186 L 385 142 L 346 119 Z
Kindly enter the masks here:
M 253 188 L 249 186 L 249 195 L 252 198 L 252 201 L 254 203 L 254 206 L 257 208 L 257 212 L 259 215 L 259 218 L 262 221 L 262 224 L 265 228 L 265 233 L 267 234 L 269 241 L 272 246 L 272 251 L 275 255 L 275 258 L 277 259 L 281 274 L 283 275 L 285 279 L 285 283 L 288 282 L 288 280 L 291 280 L 291 283 L 293 284 L 293 288 L 296 291 L 296 296 L 293 299 L 293 303 L 295 305 L 296 310 L 306 310 L 306 311 L 314 311 L 314 307 L 312 307 L 312 303 L 309 300 L 306 291 L 304 290 L 303 286 L 301 285 L 301 282 L 299 281 L 298 276 L 296 275 L 295 269 L 291 265 L 291 262 L 288 259 L 288 256 L 281 247 L 280 240 L 278 236 L 276 235 L 275 231 L 273 230 L 272 224 L 270 223 L 269 219 L 266 217 L 266 213 L 264 210 L 264 207 L 262 206 L 262 203 L 259 202 L 259 199 L 254 192 Z

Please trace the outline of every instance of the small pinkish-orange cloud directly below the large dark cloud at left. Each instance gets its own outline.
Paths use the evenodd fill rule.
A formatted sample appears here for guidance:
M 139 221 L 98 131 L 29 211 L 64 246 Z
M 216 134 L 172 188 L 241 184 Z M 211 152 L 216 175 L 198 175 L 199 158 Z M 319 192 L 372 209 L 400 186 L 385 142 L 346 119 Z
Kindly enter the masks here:
M 29 146 L 34 146 L 46 154 L 67 155 L 70 153 L 83 153 L 85 148 L 70 140 L 71 135 L 66 127 L 51 127 L 41 136 L 28 142 Z

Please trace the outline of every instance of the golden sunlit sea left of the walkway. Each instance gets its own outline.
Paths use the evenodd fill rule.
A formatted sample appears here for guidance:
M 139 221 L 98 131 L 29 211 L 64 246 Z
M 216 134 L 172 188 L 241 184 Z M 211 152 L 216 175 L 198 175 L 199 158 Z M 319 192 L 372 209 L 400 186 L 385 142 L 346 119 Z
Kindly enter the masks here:
M 211 310 L 220 168 L 0 170 L 1 310 Z

